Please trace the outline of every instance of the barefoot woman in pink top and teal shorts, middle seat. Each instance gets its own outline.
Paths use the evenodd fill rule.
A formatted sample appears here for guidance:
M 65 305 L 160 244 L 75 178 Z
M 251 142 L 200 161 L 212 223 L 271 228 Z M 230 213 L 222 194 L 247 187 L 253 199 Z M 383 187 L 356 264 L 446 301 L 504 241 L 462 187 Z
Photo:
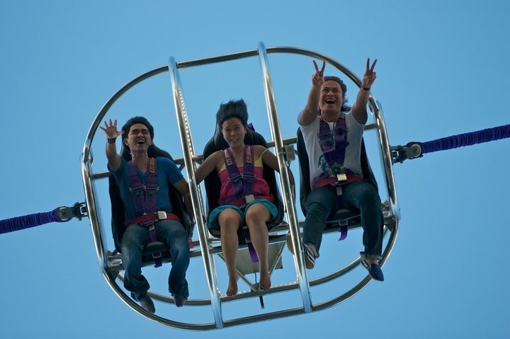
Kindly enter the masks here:
M 208 156 L 197 169 L 195 178 L 200 183 L 212 171 L 216 171 L 220 177 L 220 206 L 210 213 L 208 227 L 220 229 L 222 251 L 229 275 L 227 296 L 237 294 L 237 230 L 243 223 L 249 228 L 251 243 L 259 256 L 259 287 L 266 290 L 271 287 L 266 223 L 278 215 L 278 210 L 274 204 L 275 197 L 271 195 L 262 173 L 263 164 L 279 172 L 278 159 L 266 147 L 244 144 L 248 122 L 244 100 L 222 103 L 216 114 L 216 122 L 229 148 Z

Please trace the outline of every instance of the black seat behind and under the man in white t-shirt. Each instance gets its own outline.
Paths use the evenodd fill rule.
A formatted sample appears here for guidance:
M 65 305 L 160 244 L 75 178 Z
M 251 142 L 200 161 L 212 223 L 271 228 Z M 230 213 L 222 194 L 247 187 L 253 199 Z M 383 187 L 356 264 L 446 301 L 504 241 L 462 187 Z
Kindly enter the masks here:
M 306 199 L 310 192 L 312 192 L 312 188 L 310 187 L 310 165 L 308 161 L 308 153 L 305 146 L 305 139 L 302 136 L 301 129 L 297 128 L 297 157 L 299 159 L 300 166 L 300 204 L 303 214 L 306 217 Z M 363 178 L 375 186 L 378 187 L 377 182 L 375 181 L 375 176 L 373 175 L 372 168 L 370 168 L 370 163 L 368 163 L 368 156 L 366 154 L 365 149 L 365 141 L 361 139 L 361 171 L 363 172 Z M 339 209 L 339 211 L 334 214 L 333 217 L 330 217 L 331 221 L 344 220 L 349 219 L 351 217 L 355 217 L 358 214 L 358 211 L 351 211 L 350 209 Z

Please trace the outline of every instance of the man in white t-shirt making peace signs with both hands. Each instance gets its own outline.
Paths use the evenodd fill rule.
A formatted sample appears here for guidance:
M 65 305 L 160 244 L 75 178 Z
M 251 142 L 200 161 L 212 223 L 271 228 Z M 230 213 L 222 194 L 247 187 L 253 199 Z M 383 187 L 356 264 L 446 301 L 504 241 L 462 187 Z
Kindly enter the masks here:
M 379 266 L 382 251 L 384 218 L 375 185 L 363 179 L 361 173 L 361 140 L 367 121 L 366 106 L 370 87 L 375 81 L 375 63 L 366 71 L 356 102 L 346 105 L 347 87 L 336 76 L 324 76 L 325 62 L 315 73 L 305 109 L 297 117 L 305 141 L 310 167 L 310 187 L 307 196 L 306 219 L 303 227 L 305 263 L 314 268 L 319 257 L 322 231 L 326 219 L 341 207 L 360 210 L 363 226 L 361 264 L 374 280 L 383 281 Z M 349 113 L 350 111 L 350 113 Z

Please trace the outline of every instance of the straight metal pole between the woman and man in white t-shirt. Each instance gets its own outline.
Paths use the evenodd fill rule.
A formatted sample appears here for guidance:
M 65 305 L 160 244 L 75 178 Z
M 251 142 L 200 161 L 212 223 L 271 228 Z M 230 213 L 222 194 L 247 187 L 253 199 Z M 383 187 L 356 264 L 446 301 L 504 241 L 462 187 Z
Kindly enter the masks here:
M 264 86 L 264 95 L 266 97 L 266 109 L 269 117 L 269 126 L 271 127 L 271 135 L 275 142 L 276 157 L 278 158 L 278 166 L 280 166 L 280 185 L 283 190 L 283 199 L 285 201 L 285 209 L 287 210 L 287 218 L 290 229 L 290 237 L 294 247 L 294 264 L 297 273 L 297 282 L 300 286 L 303 307 L 305 312 L 312 311 L 312 299 L 310 297 L 310 285 L 306 275 L 305 261 L 302 256 L 302 243 L 300 241 L 299 224 L 297 221 L 297 213 L 293 195 L 290 190 L 290 180 L 288 168 L 285 165 L 283 154 L 283 140 L 280 132 L 280 122 L 276 111 L 276 102 L 273 93 L 273 85 L 271 84 L 271 76 L 269 75 L 269 66 L 266 47 L 263 42 L 259 42 L 259 59 L 262 67 L 262 81 Z

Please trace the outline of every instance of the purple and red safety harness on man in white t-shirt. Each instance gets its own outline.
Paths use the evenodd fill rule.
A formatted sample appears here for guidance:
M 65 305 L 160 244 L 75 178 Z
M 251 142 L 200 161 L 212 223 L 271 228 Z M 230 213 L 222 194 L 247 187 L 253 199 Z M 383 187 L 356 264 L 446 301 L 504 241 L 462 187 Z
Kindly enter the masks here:
M 324 154 L 324 160 L 329 166 L 328 172 L 323 172 L 317 178 L 312 180 L 312 190 L 319 187 L 331 185 L 336 187 L 336 203 L 339 208 L 344 207 L 344 196 L 342 185 L 352 183 L 353 181 L 365 180 L 362 176 L 357 176 L 348 168 L 344 168 L 344 160 L 347 141 L 348 128 L 346 125 L 346 115 L 341 113 L 336 124 L 331 130 L 329 124 L 321 117 L 319 122 L 319 145 Z M 343 240 L 347 236 L 347 225 L 345 222 L 339 222 L 341 236 L 339 240 Z

